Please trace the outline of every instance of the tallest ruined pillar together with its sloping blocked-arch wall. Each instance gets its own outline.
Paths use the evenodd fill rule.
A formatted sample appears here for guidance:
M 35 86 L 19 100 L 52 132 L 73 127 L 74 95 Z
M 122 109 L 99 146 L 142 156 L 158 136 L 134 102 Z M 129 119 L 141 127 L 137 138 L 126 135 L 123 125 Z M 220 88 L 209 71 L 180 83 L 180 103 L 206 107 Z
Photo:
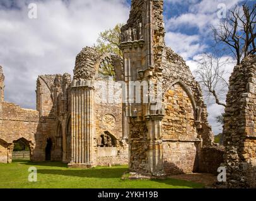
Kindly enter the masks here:
M 160 102 L 127 104 L 131 171 L 161 175 L 199 170 L 201 149 L 212 145 L 213 134 L 199 84 L 185 61 L 165 45 L 163 1 L 132 1 L 122 35 L 125 82 L 162 84 L 163 93 L 158 109 L 152 106 Z M 157 87 L 149 92 L 157 94 Z

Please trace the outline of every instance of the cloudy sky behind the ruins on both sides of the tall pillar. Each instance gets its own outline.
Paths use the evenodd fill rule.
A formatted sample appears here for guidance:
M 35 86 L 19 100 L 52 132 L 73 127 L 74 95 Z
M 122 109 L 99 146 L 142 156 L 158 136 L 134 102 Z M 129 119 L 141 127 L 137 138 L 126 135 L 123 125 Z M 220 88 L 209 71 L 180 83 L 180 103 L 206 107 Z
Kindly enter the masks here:
M 243 2 L 165 0 L 166 44 L 195 70 L 195 58 L 212 51 L 211 26 L 219 22 L 218 5 L 230 9 Z M 30 3 L 37 4 L 37 19 L 28 18 Z M 125 23 L 130 4 L 130 0 L 0 0 L 0 65 L 6 76 L 6 101 L 35 109 L 38 75 L 73 73 L 80 50 L 93 45 L 100 31 Z M 226 68 L 231 72 L 232 67 Z M 218 134 L 221 127 L 215 117 L 223 107 L 211 99 L 207 106 Z

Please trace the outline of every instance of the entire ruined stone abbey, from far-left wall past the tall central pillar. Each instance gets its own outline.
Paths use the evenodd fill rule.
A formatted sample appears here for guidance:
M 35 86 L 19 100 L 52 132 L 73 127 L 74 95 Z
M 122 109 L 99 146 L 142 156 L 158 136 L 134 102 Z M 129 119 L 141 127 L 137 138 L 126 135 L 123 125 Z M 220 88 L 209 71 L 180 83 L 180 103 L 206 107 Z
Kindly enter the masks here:
M 132 1 L 130 17 L 122 27 L 121 48 L 123 58 L 83 48 L 76 57 L 73 79 L 67 73 L 40 75 L 36 110 L 4 101 L 1 69 L 0 162 L 10 163 L 13 142 L 23 139 L 32 161 L 63 161 L 70 167 L 84 168 L 129 163 L 130 171 L 148 176 L 217 173 L 224 150 L 213 143 L 201 87 L 182 57 L 165 45 L 163 0 Z M 106 78 L 100 76 L 100 64 L 105 58 L 115 69 L 115 81 L 122 82 L 125 93 L 120 96 L 124 102 L 109 98 L 101 102 L 105 98 L 102 91 L 108 93 L 110 87 L 115 94 L 120 90 L 115 82 L 105 82 Z M 238 78 L 243 79 L 240 74 Z M 254 79 L 248 77 L 251 84 L 245 89 L 252 90 Z M 141 93 L 132 95 L 131 82 L 141 87 Z M 253 96 L 245 93 L 241 100 L 245 107 L 254 107 L 255 117 Z M 148 101 L 137 102 L 138 97 Z M 255 128 L 252 131 L 250 126 L 255 125 L 255 119 L 250 119 L 252 114 L 248 112 L 243 112 L 243 121 L 239 122 L 239 126 L 244 125 L 245 131 L 240 128 L 244 135 L 237 135 L 243 150 L 236 147 L 240 144 L 228 146 L 228 150 L 240 151 L 231 156 L 237 160 L 231 162 L 231 167 L 233 163 L 244 163 L 240 163 L 241 157 L 255 157 Z M 231 128 L 235 132 L 236 127 Z M 228 141 L 229 134 L 226 136 Z M 253 170 L 253 166 L 247 168 Z

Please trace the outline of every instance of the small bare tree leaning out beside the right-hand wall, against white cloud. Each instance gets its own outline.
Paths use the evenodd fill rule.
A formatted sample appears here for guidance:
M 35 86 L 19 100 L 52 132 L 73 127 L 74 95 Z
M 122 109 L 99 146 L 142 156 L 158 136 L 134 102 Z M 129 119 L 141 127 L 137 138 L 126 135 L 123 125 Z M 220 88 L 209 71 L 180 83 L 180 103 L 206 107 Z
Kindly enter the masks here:
M 226 93 L 228 89 L 228 82 L 225 80 L 224 75 L 228 73 L 224 68 L 230 60 L 221 57 L 214 58 L 214 55 L 204 53 L 202 58 L 197 60 L 199 64 L 195 74 L 197 80 L 202 85 L 207 97 L 213 96 L 216 104 L 226 107 L 224 102 L 221 102 L 219 95 L 221 92 Z

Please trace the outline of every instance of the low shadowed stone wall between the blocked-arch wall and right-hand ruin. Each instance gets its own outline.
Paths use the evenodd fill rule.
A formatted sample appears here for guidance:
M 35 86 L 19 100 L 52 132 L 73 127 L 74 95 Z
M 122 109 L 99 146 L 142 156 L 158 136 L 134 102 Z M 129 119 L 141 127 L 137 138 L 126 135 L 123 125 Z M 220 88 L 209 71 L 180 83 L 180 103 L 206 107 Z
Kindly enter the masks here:
M 218 174 L 218 168 L 223 163 L 224 147 L 205 146 L 201 149 L 199 159 L 199 171 Z

